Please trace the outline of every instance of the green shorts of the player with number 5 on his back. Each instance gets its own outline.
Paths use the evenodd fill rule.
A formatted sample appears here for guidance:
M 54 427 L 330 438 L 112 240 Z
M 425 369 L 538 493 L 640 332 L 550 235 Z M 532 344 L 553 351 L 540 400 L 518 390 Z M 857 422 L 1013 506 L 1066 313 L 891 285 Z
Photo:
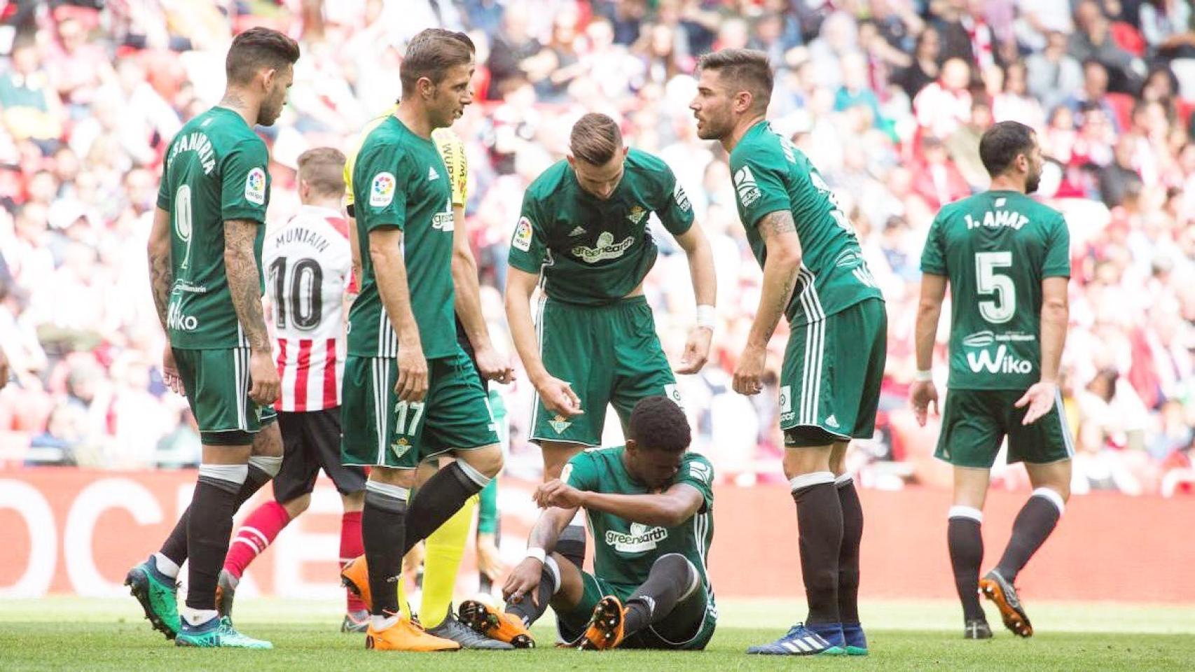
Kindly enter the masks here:
M 951 389 L 942 411 L 942 433 L 933 456 L 955 467 L 989 469 L 1009 437 L 1009 464 L 1049 464 L 1074 456 L 1062 400 L 1032 425 L 1022 425 L 1027 408 L 1013 403 L 1024 390 Z

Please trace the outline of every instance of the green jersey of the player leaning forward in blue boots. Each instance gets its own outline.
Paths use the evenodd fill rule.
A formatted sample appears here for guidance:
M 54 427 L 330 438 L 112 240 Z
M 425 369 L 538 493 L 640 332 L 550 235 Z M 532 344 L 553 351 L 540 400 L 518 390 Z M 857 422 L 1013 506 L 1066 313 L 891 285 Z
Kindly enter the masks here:
M 759 265 L 767 247 L 760 220 L 792 212 L 801 240 L 801 270 L 784 314 L 798 327 L 866 298 L 883 298 L 863 260 L 854 227 L 809 159 L 767 122 L 753 125 L 730 153 L 739 218 Z

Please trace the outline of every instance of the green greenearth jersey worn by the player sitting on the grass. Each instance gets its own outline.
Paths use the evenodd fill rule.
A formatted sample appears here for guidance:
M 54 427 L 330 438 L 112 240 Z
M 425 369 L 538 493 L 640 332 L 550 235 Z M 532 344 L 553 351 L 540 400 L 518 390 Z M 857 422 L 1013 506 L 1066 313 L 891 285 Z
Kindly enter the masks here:
M 646 494 L 648 488 L 627 473 L 623 463 L 625 451 L 621 445 L 587 450 L 569 461 L 560 480 L 581 491 Z M 594 574 L 633 590 L 648 580 L 656 560 L 679 553 L 701 573 L 712 600 L 706 562 L 713 543 L 713 467 L 704 456 L 687 452 L 669 487 L 675 483 L 693 486 L 705 498 L 701 510 L 675 528 L 631 523 L 600 511 L 586 512 L 594 537 Z

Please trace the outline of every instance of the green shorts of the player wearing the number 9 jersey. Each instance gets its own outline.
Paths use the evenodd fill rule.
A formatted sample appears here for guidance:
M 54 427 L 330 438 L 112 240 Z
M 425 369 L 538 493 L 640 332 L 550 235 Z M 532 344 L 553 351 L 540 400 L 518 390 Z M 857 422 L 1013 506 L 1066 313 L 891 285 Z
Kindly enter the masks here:
M 249 445 L 277 419 L 272 406 L 249 399 L 247 347 L 171 350 L 204 445 Z

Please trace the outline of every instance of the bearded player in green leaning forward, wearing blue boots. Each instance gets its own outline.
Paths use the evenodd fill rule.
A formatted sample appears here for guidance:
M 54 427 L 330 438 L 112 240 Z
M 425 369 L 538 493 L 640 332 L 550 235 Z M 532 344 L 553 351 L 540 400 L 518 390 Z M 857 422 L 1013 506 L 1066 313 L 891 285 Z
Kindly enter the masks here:
M 809 616 L 748 653 L 864 655 L 858 615 L 863 508 L 844 457 L 852 438 L 875 433 L 887 355 L 883 297 L 833 191 L 764 118 L 772 95 L 767 55 L 725 49 L 701 56 L 698 67 L 698 93 L 690 105 L 697 132 L 730 153 L 739 217 L 764 267 L 735 392 L 762 390 L 767 341 L 782 315 L 790 329 L 780 369 L 780 429 Z

